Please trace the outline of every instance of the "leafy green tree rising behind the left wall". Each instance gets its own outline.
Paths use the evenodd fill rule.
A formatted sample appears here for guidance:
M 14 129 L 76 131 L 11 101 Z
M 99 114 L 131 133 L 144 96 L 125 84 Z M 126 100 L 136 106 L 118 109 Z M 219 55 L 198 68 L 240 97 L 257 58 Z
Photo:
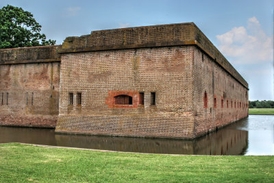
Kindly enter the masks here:
M 41 25 L 30 12 L 12 5 L 0 9 L 0 49 L 55 45 L 40 34 Z

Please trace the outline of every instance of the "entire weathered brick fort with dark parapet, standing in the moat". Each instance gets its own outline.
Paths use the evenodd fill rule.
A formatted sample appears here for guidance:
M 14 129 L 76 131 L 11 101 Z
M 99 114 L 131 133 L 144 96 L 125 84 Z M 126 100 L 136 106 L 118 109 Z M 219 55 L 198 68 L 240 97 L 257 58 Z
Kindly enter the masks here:
M 32 125 L 49 126 L 59 114 L 60 133 L 196 138 L 248 115 L 247 82 L 194 23 L 96 31 L 62 47 L 0 54 L 4 101 L 11 93 L 0 124 L 43 117 Z M 26 93 L 36 93 L 33 106 Z

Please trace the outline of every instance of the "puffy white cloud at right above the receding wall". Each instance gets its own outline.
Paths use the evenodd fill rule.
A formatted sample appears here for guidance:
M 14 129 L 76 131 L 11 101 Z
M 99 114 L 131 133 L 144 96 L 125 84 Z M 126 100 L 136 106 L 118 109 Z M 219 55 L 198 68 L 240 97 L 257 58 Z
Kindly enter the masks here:
M 255 16 L 247 21 L 247 27 L 234 27 L 217 35 L 219 49 L 225 56 L 234 58 L 237 64 L 260 63 L 273 60 L 273 38 L 266 36 Z

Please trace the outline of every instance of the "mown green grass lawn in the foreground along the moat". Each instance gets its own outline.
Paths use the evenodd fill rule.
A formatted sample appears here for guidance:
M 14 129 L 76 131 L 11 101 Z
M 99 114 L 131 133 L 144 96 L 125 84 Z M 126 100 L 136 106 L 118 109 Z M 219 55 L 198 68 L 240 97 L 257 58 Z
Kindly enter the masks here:
M 0 182 L 274 182 L 274 156 L 127 154 L 0 144 Z

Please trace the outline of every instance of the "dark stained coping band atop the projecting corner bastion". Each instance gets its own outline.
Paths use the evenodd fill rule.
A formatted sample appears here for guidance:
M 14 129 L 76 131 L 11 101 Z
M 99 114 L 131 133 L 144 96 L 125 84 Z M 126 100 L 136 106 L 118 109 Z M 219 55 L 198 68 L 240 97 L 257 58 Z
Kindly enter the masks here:
M 175 23 L 106 29 L 84 36 L 67 37 L 58 53 L 195 45 L 248 89 L 245 79 L 201 32 L 195 23 Z

